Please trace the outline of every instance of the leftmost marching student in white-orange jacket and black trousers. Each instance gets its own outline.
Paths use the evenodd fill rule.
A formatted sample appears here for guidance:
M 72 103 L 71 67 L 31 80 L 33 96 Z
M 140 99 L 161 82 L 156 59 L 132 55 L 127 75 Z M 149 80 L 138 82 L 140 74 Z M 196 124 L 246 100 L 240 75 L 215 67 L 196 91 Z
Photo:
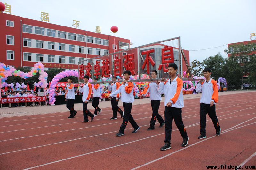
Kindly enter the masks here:
M 70 116 L 68 118 L 73 118 L 75 117 L 77 111 L 74 110 L 74 102 L 75 102 L 75 90 L 74 90 L 74 85 L 72 83 L 72 77 L 68 78 L 68 83 L 66 84 L 67 86 L 67 92 L 65 96 L 65 101 L 67 101 L 66 107 L 68 110 L 70 110 Z

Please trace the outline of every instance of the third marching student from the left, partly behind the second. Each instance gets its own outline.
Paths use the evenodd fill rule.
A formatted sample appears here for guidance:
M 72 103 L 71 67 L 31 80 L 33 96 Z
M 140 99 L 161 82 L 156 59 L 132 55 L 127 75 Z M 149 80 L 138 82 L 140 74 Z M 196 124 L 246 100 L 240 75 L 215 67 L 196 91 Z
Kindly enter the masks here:
M 93 85 L 93 98 L 92 98 L 92 106 L 95 108 L 94 110 L 94 115 L 97 116 L 98 112 L 99 112 L 99 115 L 100 115 L 100 112 L 102 111 L 102 109 L 100 109 L 98 107 L 99 105 L 99 101 L 100 101 L 100 84 L 97 84 L 97 80 L 96 78 L 93 79 L 93 82 L 94 82 L 94 85 Z

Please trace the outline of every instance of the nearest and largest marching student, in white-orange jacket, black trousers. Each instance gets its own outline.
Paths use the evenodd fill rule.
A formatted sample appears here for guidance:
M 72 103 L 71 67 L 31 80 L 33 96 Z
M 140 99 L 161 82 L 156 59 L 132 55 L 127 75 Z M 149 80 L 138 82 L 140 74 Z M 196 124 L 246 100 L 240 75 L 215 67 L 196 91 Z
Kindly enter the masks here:
M 171 149 L 171 134 L 172 134 L 172 119 L 180 131 L 183 138 L 181 146 L 188 145 L 188 135 L 186 128 L 182 121 L 182 108 L 184 107 L 182 87 L 183 81 L 176 76 L 178 66 L 174 63 L 168 65 L 168 74 L 171 77 L 167 81 L 162 78 L 162 82 L 157 82 L 159 94 L 164 94 L 164 122 L 165 122 L 165 139 L 164 146 L 160 148 L 161 151 Z M 165 81 L 165 82 L 164 82 Z

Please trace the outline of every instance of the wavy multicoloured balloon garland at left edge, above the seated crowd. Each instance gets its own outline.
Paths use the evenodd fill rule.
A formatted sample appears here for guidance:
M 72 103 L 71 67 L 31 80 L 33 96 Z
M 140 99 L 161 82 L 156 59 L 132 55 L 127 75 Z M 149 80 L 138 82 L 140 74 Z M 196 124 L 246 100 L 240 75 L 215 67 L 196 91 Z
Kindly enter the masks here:
M 36 86 L 36 87 L 41 86 L 43 88 L 47 87 L 47 85 L 48 85 L 47 76 L 48 75 L 44 71 L 44 65 L 41 62 L 38 62 L 38 63 L 34 64 L 34 67 L 28 73 L 24 73 L 23 71 L 20 71 L 20 70 L 17 71 L 12 66 L 6 67 L 6 65 L 4 63 L 0 63 L 0 88 L 6 87 L 6 86 L 13 88 L 13 86 L 14 86 L 13 83 L 8 85 L 5 82 L 5 80 L 7 80 L 9 76 L 12 76 L 12 75 L 13 76 L 20 76 L 21 78 L 27 79 L 27 78 L 35 76 L 36 73 L 38 73 L 38 72 L 40 73 L 40 76 L 38 78 L 40 81 L 38 83 L 35 82 L 34 86 Z M 23 84 L 20 85 L 19 83 L 18 84 L 16 83 L 16 86 L 18 86 L 18 88 L 20 88 L 21 86 L 24 87 Z

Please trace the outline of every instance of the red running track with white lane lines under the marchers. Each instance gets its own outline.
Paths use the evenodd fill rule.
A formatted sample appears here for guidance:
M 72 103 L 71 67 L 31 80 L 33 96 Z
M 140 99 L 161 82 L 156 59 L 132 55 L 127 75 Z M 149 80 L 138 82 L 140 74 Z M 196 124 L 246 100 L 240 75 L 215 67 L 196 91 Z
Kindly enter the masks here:
M 164 127 L 147 131 L 150 104 L 134 105 L 132 115 L 141 127 L 128 123 L 116 137 L 122 119 L 109 120 L 104 108 L 93 122 L 83 121 L 82 111 L 67 119 L 68 112 L 0 118 L 0 169 L 207 169 L 206 166 L 256 165 L 256 96 L 254 92 L 219 96 L 216 113 L 221 135 L 215 136 L 207 117 L 207 138 L 197 139 L 200 128 L 199 99 L 184 100 L 182 119 L 189 142 L 172 126 L 172 149 L 164 145 Z M 159 114 L 164 116 L 161 102 Z

